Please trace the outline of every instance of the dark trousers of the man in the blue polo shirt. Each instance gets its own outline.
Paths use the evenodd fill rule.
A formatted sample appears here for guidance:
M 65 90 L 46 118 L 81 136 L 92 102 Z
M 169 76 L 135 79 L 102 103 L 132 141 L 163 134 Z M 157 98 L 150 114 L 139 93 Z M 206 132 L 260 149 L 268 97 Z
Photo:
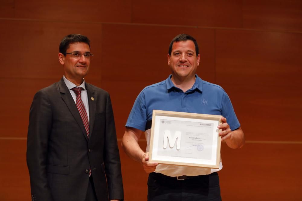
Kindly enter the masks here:
M 217 172 L 177 180 L 152 172 L 148 178 L 148 201 L 221 201 Z

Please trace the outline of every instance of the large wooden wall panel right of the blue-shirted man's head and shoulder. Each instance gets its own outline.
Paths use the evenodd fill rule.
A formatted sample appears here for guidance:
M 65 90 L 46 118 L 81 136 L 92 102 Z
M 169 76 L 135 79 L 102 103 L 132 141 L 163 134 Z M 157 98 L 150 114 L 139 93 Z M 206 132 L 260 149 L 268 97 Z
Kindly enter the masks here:
M 302 112 L 300 34 L 217 30 L 216 36 L 217 83 L 247 125 L 247 139 L 301 140 L 289 126 Z

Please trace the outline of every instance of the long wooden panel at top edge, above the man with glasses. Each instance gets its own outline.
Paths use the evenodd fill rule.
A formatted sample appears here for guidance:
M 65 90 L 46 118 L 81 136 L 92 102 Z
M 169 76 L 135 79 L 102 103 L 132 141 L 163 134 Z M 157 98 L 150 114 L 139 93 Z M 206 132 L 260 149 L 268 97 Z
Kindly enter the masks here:
M 15 0 L 15 18 L 65 22 L 130 22 L 130 0 Z

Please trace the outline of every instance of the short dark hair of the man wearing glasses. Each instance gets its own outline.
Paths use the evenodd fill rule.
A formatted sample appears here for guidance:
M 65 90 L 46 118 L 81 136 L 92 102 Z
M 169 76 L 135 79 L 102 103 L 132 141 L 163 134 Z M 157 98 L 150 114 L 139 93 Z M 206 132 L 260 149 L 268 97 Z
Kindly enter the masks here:
M 84 42 L 87 43 L 90 48 L 90 40 L 87 36 L 83 36 L 81 34 L 69 34 L 65 36 L 60 45 L 59 45 L 59 52 L 61 52 L 64 56 L 66 56 L 66 51 L 69 48 L 69 45 L 76 42 Z

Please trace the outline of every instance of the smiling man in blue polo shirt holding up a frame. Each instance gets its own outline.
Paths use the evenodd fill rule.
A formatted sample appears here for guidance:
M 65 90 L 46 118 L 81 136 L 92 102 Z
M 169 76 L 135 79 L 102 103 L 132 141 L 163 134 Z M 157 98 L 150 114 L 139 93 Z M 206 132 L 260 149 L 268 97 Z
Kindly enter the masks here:
M 164 81 L 145 87 L 134 102 L 126 123 L 122 146 L 127 155 L 150 173 L 148 201 L 221 200 L 219 169 L 165 165 L 149 162 L 152 111 L 180 111 L 222 115 L 221 140 L 233 149 L 244 144 L 244 134 L 226 92 L 218 85 L 201 80 L 195 72 L 200 55 L 196 40 L 179 34 L 170 43 L 168 64 L 172 74 Z M 144 152 L 138 140 L 145 133 Z

